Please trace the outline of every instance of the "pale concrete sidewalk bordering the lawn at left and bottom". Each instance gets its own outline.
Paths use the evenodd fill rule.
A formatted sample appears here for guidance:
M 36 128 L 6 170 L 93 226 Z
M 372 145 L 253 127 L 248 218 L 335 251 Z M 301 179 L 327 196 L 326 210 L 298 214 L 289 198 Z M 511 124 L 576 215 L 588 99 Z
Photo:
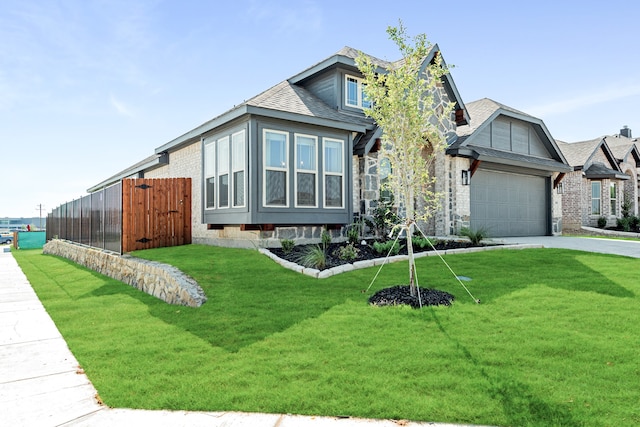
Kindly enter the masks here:
M 455 427 L 355 418 L 111 409 L 6 246 L 0 246 L 0 424 L 5 426 Z

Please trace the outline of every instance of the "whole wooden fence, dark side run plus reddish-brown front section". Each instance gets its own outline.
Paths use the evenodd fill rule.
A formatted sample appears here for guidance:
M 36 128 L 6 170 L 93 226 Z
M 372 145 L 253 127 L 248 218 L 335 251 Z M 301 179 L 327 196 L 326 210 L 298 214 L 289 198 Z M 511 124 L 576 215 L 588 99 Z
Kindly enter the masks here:
M 47 221 L 47 240 L 113 252 L 186 245 L 191 243 L 191 178 L 123 179 L 57 207 Z

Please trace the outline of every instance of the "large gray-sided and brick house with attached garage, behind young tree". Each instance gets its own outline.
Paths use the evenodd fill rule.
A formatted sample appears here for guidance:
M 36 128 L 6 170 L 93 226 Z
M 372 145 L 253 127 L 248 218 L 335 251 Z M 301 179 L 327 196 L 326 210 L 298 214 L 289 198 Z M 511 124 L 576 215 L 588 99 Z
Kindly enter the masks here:
M 385 173 L 382 129 L 363 112 L 358 54 L 341 49 L 88 191 L 127 177 L 192 178 L 194 243 L 272 246 L 317 240 L 324 227 L 344 236 L 377 206 Z M 434 45 L 424 64 L 436 55 Z M 380 72 L 394 67 L 371 59 Z M 465 225 L 495 236 L 560 232 L 551 190 L 569 168 L 542 121 L 490 100 L 473 103 L 471 113 L 451 74 L 436 91 L 454 112 L 450 148 L 432 171 L 446 196 L 426 232 L 455 234 Z

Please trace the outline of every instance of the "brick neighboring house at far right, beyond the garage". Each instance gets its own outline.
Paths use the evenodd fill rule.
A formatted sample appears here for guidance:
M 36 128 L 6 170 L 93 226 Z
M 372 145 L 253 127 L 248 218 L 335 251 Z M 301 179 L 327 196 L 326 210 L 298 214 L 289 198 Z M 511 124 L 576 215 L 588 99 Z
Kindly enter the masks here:
M 573 167 L 562 187 L 565 230 L 596 227 L 600 217 L 606 219 L 607 226 L 615 226 L 625 199 L 630 202 L 629 213 L 638 214 L 640 152 L 636 142 L 626 127 L 619 135 L 558 142 Z

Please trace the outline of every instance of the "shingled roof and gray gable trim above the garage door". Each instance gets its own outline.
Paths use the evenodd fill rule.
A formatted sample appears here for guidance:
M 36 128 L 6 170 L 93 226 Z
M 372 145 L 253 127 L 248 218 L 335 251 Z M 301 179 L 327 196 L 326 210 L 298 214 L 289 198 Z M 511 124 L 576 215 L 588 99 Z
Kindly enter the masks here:
M 447 154 L 471 157 L 478 160 L 498 161 L 514 166 L 529 167 L 547 171 L 567 172 L 571 170 L 555 139 L 549 133 L 544 122 L 530 114 L 508 107 L 489 98 L 483 98 L 467 104 L 471 121 L 468 125 L 458 126 L 458 139 L 447 148 Z M 510 151 L 497 150 L 474 145 L 478 136 L 497 117 L 506 116 L 522 120 L 534 127 L 553 159 L 530 156 Z

